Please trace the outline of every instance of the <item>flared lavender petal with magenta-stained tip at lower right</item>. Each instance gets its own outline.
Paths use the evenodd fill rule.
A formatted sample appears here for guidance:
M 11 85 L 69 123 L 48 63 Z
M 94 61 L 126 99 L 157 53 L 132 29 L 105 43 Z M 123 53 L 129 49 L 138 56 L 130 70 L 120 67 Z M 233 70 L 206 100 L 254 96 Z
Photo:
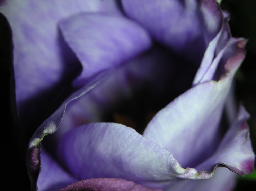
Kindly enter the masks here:
M 255 154 L 246 123 L 248 119 L 249 114 L 240 105 L 235 121 L 226 132 L 215 154 L 196 169 L 209 171 L 216 165 L 222 164 L 241 176 L 253 173 Z

